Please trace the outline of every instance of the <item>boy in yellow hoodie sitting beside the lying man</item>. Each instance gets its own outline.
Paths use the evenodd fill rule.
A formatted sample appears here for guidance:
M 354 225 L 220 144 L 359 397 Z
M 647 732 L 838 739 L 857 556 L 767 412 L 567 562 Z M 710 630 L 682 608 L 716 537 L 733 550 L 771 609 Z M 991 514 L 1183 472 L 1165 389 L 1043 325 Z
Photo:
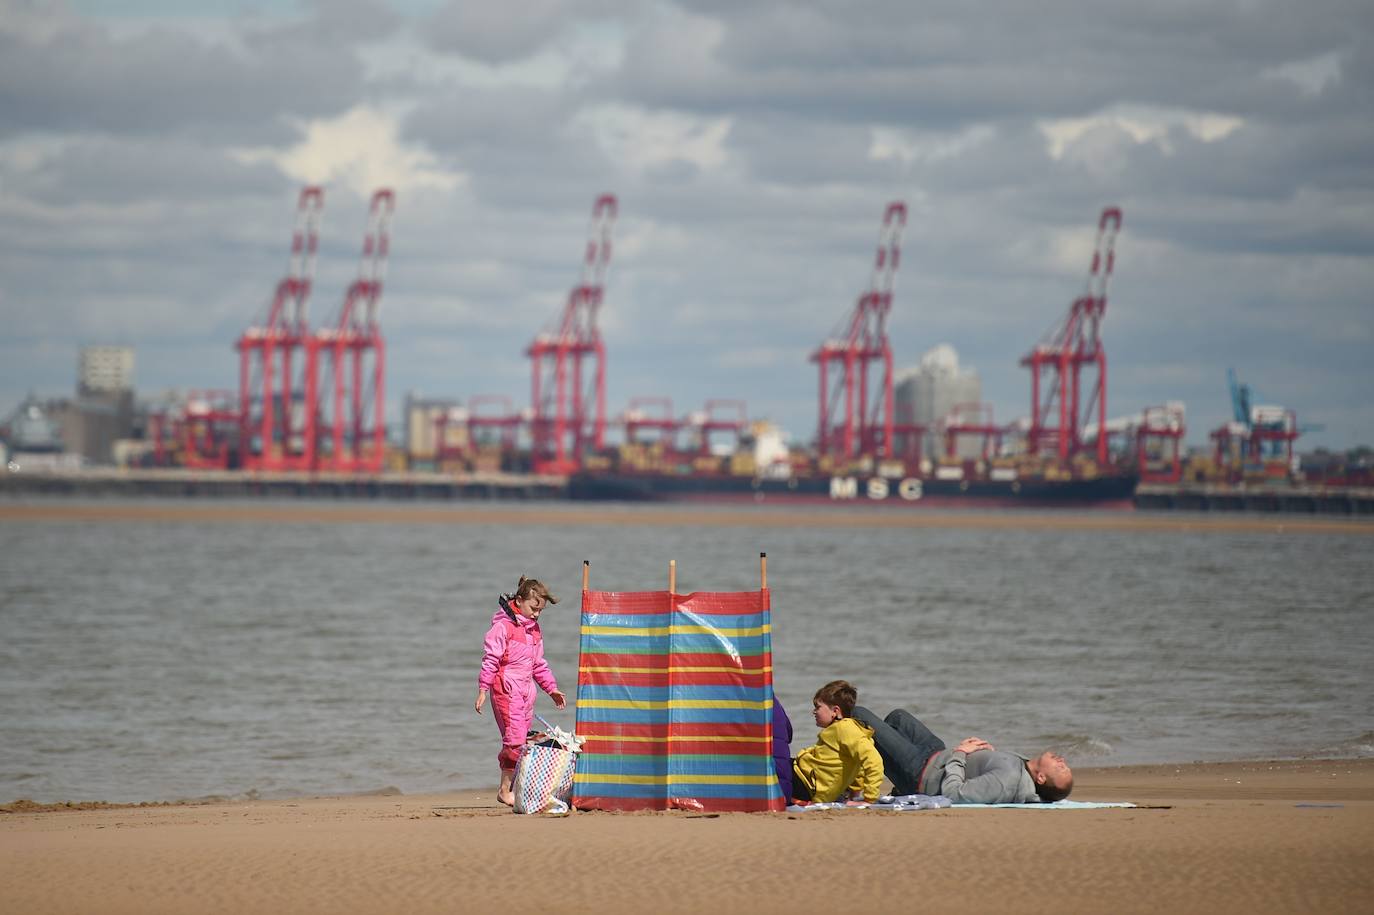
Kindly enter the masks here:
M 882 757 L 872 745 L 872 728 L 851 716 L 859 691 L 844 680 L 816 690 L 811 699 L 816 727 L 815 746 L 791 761 L 791 791 L 798 801 L 829 804 L 849 791 L 863 791 L 863 800 L 878 800 L 882 787 Z

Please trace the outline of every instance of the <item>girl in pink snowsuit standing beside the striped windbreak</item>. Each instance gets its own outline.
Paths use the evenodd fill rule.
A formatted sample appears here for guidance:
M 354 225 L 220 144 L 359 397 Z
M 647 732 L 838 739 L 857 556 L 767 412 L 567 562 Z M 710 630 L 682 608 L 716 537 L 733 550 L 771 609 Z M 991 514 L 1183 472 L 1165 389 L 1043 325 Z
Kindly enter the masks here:
M 482 669 L 477 675 L 477 702 L 473 708 L 478 714 L 492 695 L 492 713 L 502 732 L 502 752 L 496 761 L 502 767 L 502 783 L 496 800 L 511 805 L 515 794 L 511 784 L 515 780 L 515 761 L 525 735 L 534 720 L 534 684 L 562 709 L 567 705 L 559 691 L 554 672 L 544 661 L 544 633 L 539 628 L 539 614 L 544 606 L 558 603 L 544 583 L 521 576 L 513 598 L 500 598 L 500 609 L 492 617 L 492 628 L 482 640 Z

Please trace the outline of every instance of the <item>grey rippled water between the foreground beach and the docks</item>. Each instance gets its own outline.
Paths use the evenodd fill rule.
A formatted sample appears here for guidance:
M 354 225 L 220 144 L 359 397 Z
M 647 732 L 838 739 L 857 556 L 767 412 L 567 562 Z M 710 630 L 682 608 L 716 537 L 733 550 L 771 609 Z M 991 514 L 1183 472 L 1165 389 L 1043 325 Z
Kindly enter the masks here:
M 842 677 L 947 741 L 1080 765 L 1374 754 L 1367 533 L 161 504 L 169 519 L 0 525 L 0 801 L 488 787 L 481 643 L 522 573 L 561 596 L 541 626 L 572 698 L 583 559 L 609 591 L 664 589 L 676 559 L 687 594 L 757 588 L 761 551 L 794 749 L 815 690 Z M 539 712 L 573 727 L 545 697 Z

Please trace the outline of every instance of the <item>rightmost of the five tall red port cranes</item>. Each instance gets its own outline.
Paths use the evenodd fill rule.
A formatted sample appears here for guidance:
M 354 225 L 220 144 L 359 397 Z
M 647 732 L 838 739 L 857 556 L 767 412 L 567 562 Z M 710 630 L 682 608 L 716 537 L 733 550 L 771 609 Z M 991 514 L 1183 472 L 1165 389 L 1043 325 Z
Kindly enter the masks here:
M 1107 309 L 1107 280 L 1112 278 L 1116 236 L 1121 231 L 1121 210 L 1109 206 L 1098 220 L 1098 239 L 1084 291 L 1073 300 L 1069 315 L 1036 343 L 1022 365 L 1030 368 L 1030 429 L 1026 448 L 1032 455 L 1041 449 L 1059 460 L 1069 460 L 1084 451 L 1084 430 L 1095 425 L 1106 429 L 1107 354 L 1102 346 L 1102 317 Z M 1083 398 L 1083 371 L 1096 375 Z M 1041 383 L 1047 378 L 1048 383 Z M 1092 420 L 1096 414 L 1095 423 Z M 1107 437 L 1096 437 L 1098 464 L 1107 462 Z

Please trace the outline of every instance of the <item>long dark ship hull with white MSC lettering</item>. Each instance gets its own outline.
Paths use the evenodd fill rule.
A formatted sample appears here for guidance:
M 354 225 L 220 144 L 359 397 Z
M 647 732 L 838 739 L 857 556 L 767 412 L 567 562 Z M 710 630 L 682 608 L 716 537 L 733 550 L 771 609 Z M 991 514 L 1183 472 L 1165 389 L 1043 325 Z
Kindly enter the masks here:
M 1134 477 L 1094 479 L 888 479 L 883 477 L 690 477 L 574 474 L 572 499 L 746 504 L 907 506 L 927 508 L 1131 508 Z

